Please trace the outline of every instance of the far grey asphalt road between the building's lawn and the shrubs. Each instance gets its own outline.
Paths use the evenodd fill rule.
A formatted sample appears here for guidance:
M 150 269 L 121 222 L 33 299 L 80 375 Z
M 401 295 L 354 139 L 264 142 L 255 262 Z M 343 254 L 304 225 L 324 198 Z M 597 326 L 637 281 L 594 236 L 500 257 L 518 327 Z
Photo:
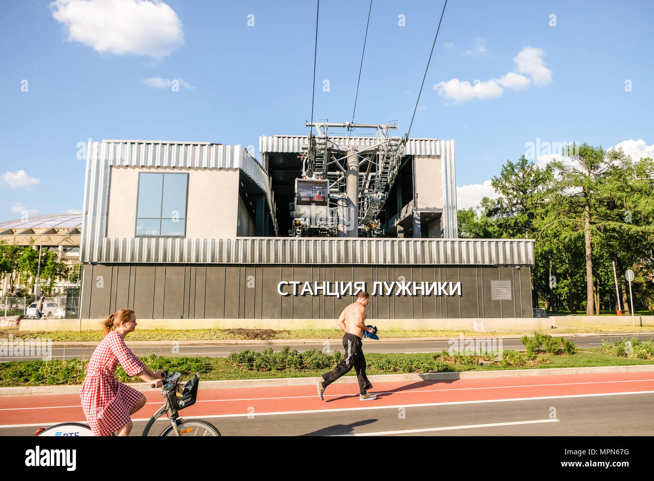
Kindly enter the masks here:
M 639 334 L 637 336 L 640 340 L 648 340 L 652 338 L 651 334 Z M 491 339 L 491 336 L 487 336 Z M 624 338 L 632 338 L 628 336 L 574 336 L 570 337 L 575 342 L 577 347 L 600 347 L 602 340 L 621 340 Z M 498 341 L 499 342 L 499 341 Z M 138 356 L 147 356 L 150 354 L 162 356 L 198 356 L 198 357 L 227 357 L 233 351 L 243 351 L 243 349 L 252 349 L 254 351 L 262 351 L 263 349 L 272 348 L 274 351 L 280 351 L 284 346 L 290 346 L 293 349 L 298 349 L 300 352 L 309 349 L 323 349 L 325 346 L 322 341 L 311 343 L 284 343 L 284 344 L 176 344 L 172 341 L 162 341 L 158 345 L 132 344 L 127 343 L 130 349 Z M 377 342 L 375 340 L 364 340 L 364 353 L 430 353 L 441 352 L 443 349 L 448 349 L 451 344 L 448 341 L 398 341 L 398 342 Z M 499 344 L 498 344 L 499 347 Z M 52 359 L 89 359 L 93 354 L 95 346 L 88 347 L 52 347 Z M 343 351 L 343 346 L 340 342 L 330 342 L 328 346 L 330 351 L 338 349 Z M 502 349 L 509 350 L 515 349 L 517 351 L 524 351 L 525 346 L 519 339 L 502 339 Z M 43 359 L 43 355 L 33 356 L 0 356 L 0 361 L 28 361 L 30 359 Z

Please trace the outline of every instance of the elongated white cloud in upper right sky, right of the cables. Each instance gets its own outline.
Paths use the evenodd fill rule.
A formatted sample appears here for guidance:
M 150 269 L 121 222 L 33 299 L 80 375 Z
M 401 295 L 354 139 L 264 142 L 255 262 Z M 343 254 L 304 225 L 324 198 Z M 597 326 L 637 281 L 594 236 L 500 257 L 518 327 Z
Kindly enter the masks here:
M 504 92 L 504 88 L 525 90 L 530 86 L 532 80 L 534 84 L 546 85 L 552 81 L 552 72 L 545 67 L 545 63 L 540 58 L 542 55 L 543 50 L 541 48 L 528 46 L 513 58 L 516 70 L 519 73 L 525 73 L 530 78 L 519 73 L 508 72 L 499 79 L 475 80 L 472 84 L 468 80 L 451 79 L 434 85 L 434 90 L 442 98 L 463 103 L 473 99 L 500 97 Z

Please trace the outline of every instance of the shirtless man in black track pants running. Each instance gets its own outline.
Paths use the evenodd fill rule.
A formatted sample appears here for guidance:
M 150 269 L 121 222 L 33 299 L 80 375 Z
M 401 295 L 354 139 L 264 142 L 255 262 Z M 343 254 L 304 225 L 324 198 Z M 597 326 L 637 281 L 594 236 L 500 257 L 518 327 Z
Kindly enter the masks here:
M 366 377 L 366 358 L 361 350 L 361 339 L 364 336 L 364 331 L 367 330 L 371 334 L 375 332 L 372 327 L 366 326 L 366 306 L 370 302 L 370 294 L 363 292 L 360 293 L 356 302 L 353 302 L 341 312 L 341 317 L 338 318 L 338 325 L 345 331 L 343 336 L 343 347 L 345 347 L 345 359 L 338 363 L 334 370 L 322 374 L 323 381 L 318 381 L 316 386 L 318 389 L 318 397 L 320 401 L 323 400 L 322 393 L 325 388 L 338 378 L 347 374 L 352 370 L 356 370 L 356 378 L 359 381 L 359 390 L 361 401 L 368 401 L 375 399 L 377 395 L 369 394 L 368 389 L 372 389 L 372 384 Z

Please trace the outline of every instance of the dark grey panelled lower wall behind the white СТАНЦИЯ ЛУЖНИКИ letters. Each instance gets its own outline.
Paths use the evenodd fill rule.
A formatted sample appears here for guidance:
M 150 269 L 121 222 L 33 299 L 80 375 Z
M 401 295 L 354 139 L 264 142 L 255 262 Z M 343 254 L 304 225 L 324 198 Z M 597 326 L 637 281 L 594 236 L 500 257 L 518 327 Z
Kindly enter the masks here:
M 491 299 L 493 279 L 511 281 L 512 300 Z M 364 281 L 369 292 L 374 282 L 462 283 L 461 296 L 373 296 L 370 319 L 532 317 L 528 266 L 179 264 L 85 265 L 82 315 L 102 318 L 133 307 L 139 319 L 334 319 L 354 300 L 349 295 L 280 296 L 277 285 L 282 280 Z

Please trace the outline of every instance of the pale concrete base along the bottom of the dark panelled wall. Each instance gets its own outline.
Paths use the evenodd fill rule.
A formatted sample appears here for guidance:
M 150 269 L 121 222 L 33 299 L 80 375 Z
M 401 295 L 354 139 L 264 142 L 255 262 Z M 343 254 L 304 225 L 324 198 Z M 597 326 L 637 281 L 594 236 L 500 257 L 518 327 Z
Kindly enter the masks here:
M 485 319 L 368 319 L 380 330 L 475 330 L 511 332 L 553 329 L 555 319 L 504 317 Z M 102 329 L 104 319 L 82 319 L 82 330 Z M 334 329 L 334 319 L 139 319 L 137 329 Z M 24 319 L 20 330 L 78 330 L 80 319 Z

